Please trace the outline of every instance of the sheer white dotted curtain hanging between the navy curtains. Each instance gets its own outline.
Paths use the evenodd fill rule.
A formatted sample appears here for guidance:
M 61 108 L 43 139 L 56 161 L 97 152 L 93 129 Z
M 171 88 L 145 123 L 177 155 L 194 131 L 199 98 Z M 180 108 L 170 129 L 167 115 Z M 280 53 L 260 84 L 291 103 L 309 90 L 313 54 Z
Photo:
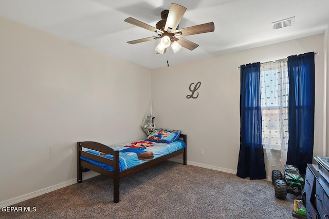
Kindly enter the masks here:
M 282 170 L 288 150 L 287 58 L 261 63 L 261 107 L 263 148 L 268 160 L 268 173 Z

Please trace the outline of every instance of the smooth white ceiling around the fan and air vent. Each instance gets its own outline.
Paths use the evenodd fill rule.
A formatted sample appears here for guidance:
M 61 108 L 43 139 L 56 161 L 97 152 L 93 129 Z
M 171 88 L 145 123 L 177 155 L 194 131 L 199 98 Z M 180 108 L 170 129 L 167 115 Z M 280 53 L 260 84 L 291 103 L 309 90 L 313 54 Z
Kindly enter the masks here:
M 186 36 L 199 45 L 156 54 L 159 40 L 123 20 L 133 17 L 155 27 L 160 13 L 176 3 L 187 8 L 179 28 L 214 22 L 215 31 Z M 322 33 L 329 24 L 328 0 L 0 0 L 0 15 L 148 68 L 167 66 L 231 51 Z M 295 24 L 273 30 L 272 22 L 293 17 Z

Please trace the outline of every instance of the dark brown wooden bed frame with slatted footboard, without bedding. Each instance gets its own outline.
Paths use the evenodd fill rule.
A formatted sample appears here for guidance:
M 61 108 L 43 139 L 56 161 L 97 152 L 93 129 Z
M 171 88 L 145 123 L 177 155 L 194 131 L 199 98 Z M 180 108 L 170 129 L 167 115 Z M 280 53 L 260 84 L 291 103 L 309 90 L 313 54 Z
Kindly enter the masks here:
M 185 145 L 187 146 L 186 134 L 180 134 L 179 138 L 182 138 L 182 140 L 185 142 Z M 77 171 L 78 179 L 77 180 L 78 180 L 78 183 L 82 183 L 82 167 L 88 168 L 89 170 L 93 170 L 95 172 L 98 172 L 100 174 L 113 178 L 113 201 L 114 201 L 114 203 L 118 203 L 120 201 L 120 198 L 119 198 L 119 196 L 120 196 L 120 178 L 131 175 L 135 172 L 141 171 L 145 168 L 151 167 L 160 162 L 166 161 L 169 158 L 177 156 L 178 154 L 181 154 L 181 153 L 183 154 L 183 164 L 186 165 L 186 155 L 187 155 L 186 149 L 187 149 L 187 147 L 180 149 L 178 151 L 175 151 L 173 153 L 167 154 L 165 156 L 155 158 L 154 160 L 151 160 L 149 162 L 142 163 L 138 166 L 135 166 L 135 167 L 123 170 L 123 171 L 119 171 L 119 151 L 113 150 L 112 148 L 110 148 L 106 145 L 103 145 L 101 143 L 97 143 L 97 142 L 78 142 L 77 146 L 78 146 L 77 147 L 78 148 L 78 150 L 77 150 L 77 152 L 78 152 L 78 154 L 77 154 L 77 156 L 78 156 L 77 157 L 77 162 L 78 162 L 78 171 Z M 103 152 L 106 154 L 111 154 L 111 155 L 113 155 L 114 159 L 112 161 L 112 160 L 106 159 L 101 156 L 86 153 L 86 152 L 82 151 L 82 148 L 92 149 L 92 150 L 96 150 L 96 151 Z M 82 160 L 80 160 L 80 156 L 84 156 L 84 157 L 87 157 L 94 161 L 98 161 L 98 162 L 101 162 L 104 164 L 111 165 L 111 166 L 113 166 L 114 171 L 107 171 L 107 170 L 97 167 L 91 163 L 82 161 Z

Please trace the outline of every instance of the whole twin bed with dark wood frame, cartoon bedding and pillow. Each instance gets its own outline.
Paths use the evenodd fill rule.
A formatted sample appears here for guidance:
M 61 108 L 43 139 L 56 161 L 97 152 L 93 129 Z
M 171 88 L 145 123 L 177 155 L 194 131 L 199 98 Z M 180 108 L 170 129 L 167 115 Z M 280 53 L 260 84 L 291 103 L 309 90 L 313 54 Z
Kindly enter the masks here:
M 77 143 L 78 183 L 83 167 L 113 178 L 113 200 L 120 201 L 120 179 L 183 154 L 187 163 L 187 135 L 178 130 L 157 129 L 145 140 L 106 146 L 97 142 Z

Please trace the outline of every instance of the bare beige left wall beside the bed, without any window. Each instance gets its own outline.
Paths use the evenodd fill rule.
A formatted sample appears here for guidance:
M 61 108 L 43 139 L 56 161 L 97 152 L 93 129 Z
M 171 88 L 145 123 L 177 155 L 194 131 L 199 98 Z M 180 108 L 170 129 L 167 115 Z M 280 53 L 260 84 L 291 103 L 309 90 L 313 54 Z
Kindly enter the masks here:
M 150 69 L 2 17 L 0 30 L 0 205 L 75 183 L 77 141 L 144 137 Z

